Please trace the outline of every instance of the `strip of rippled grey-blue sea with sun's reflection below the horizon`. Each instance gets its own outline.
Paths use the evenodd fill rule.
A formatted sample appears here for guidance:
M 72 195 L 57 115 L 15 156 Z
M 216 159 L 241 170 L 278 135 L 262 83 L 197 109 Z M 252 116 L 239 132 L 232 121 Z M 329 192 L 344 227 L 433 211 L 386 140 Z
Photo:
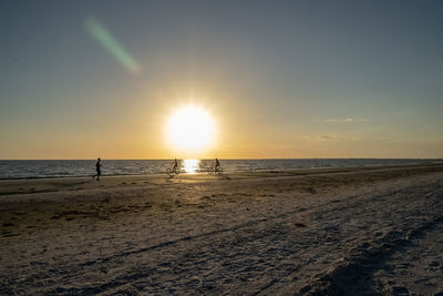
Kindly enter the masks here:
M 95 160 L 76 161 L 0 161 L 0 178 L 48 178 L 91 176 Z M 172 160 L 102 160 L 102 175 L 164 174 Z M 205 172 L 214 160 L 181 160 L 183 173 Z M 315 167 L 359 167 L 439 163 L 431 159 L 291 159 L 291 160 L 220 160 L 224 172 L 288 170 Z

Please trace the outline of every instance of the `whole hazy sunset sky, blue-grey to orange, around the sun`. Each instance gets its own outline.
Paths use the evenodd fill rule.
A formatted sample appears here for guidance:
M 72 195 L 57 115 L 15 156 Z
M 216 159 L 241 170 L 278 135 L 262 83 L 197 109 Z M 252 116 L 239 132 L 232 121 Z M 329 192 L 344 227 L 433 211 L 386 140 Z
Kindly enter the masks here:
M 0 1 L 0 159 L 443 157 L 443 2 Z M 167 141 L 177 109 L 206 150 Z

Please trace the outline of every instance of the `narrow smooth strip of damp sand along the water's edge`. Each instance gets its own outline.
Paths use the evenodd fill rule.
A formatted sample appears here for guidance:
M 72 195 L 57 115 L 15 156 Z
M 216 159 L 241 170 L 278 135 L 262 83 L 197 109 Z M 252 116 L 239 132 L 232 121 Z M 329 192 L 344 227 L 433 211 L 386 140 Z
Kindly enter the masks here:
M 178 175 L 146 174 L 146 175 L 113 175 L 102 176 L 100 181 L 92 177 L 53 177 L 53 178 L 19 178 L 0 180 L 0 201 L 2 196 L 39 194 L 59 191 L 82 191 L 94 188 L 116 188 L 119 186 L 163 184 L 171 182 L 198 183 L 216 182 L 223 180 L 250 180 L 250 178 L 272 178 L 309 176 L 322 174 L 341 173 L 364 173 L 398 170 L 419 170 L 439 171 L 443 170 L 443 164 L 412 164 L 412 165 L 387 165 L 387 166 L 358 166 L 358 167 L 321 167 L 321 169 L 288 169 L 288 170 L 256 170 L 226 172 L 222 175 L 207 173 L 182 173 Z

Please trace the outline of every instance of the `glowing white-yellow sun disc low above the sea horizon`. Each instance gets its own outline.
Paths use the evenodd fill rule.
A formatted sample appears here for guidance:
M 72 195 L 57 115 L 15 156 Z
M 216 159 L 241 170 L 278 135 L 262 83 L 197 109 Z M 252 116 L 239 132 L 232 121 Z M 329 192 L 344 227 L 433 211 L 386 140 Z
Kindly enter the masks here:
M 213 144 L 214 120 L 204 109 L 186 105 L 176 110 L 167 123 L 167 137 L 182 152 L 202 151 Z

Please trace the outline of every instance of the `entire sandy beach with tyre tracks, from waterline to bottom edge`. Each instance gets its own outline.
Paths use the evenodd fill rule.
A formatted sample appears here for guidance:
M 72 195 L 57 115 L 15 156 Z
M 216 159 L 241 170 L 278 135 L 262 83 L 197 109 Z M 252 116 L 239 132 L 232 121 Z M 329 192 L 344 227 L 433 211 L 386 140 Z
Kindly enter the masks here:
M 0 294 L 443 295 L 443 165 L 0 181 Z

